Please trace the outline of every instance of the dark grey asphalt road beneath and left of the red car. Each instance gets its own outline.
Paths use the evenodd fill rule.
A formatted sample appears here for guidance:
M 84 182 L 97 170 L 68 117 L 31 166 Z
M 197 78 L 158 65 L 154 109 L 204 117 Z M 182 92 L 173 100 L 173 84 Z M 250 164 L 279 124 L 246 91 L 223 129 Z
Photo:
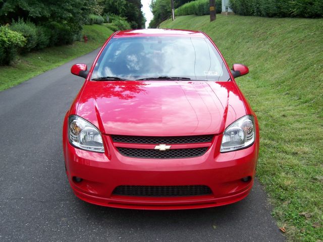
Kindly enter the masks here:
M 97 51 L 0 92 L 0 241 L 284 241 L 257 182 L 241 202 L 199 210 L 112 209 L 74 196 L 61 133 L 83 79 L 70 67 Z

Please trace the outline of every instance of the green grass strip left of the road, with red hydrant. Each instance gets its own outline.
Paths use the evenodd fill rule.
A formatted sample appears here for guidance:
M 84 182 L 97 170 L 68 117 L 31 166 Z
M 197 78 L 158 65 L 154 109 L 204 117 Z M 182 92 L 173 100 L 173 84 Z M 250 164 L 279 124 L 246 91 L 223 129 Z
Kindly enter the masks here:
M 98 48 L 112 33 L 113 31 L 104 25 L 85 25 L 83 35 L 88 37 L 87 43 L 83 40 L 75 41 L 71 45 L 49 47 L 19 55 L 11 66 L 0 66 L 0 91 Z

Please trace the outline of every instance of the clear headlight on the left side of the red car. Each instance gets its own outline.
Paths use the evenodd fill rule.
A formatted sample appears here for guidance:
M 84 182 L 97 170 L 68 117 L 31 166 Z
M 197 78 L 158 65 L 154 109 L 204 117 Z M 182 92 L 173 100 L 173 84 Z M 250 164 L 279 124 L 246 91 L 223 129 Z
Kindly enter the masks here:
M 82 150 L 104 152 L 101 133 L 85 119 L 71 115 L 68 130 L 69 141 L 75 147 Z

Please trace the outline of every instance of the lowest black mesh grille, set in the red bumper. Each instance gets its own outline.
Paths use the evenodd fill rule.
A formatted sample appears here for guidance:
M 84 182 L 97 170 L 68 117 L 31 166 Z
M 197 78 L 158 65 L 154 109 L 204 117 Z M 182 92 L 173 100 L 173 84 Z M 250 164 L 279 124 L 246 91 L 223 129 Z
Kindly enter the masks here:
M 114 195 L 136 197 L 182 197 L 210 195 L 212 191 L 203 185 L 193 186 L 119 186 Z

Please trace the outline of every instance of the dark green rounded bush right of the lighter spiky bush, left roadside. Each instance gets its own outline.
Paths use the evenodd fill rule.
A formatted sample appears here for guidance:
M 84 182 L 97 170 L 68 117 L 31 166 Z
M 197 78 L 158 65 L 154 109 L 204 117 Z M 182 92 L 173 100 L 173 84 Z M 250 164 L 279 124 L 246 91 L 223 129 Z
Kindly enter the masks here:
M 68 25 L 51 22 L 45 27 L 51 30 L 50 46 L 73 43 L 75 33 Z

